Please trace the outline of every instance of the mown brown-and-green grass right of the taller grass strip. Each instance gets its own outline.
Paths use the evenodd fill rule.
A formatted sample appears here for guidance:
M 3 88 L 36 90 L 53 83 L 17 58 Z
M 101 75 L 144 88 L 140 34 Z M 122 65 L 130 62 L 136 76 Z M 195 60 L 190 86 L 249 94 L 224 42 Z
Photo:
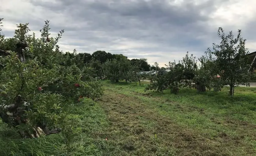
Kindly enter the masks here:
M 105 82 L 107 155 L 256 155 L 256 88 L 177 95 L 144 92 L 145 84 Z

